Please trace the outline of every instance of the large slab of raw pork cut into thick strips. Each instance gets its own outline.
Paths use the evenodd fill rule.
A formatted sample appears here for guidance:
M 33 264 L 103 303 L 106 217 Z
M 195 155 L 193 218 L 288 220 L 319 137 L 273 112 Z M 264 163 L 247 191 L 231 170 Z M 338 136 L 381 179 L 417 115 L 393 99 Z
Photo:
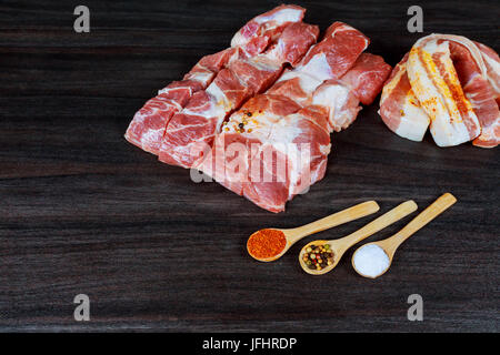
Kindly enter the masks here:
M 334 22 L 314 44 L 319 29 L 301 22 L 303 12 L 280 6 L 249 21 L 231 48 L 151 99 L 127 139 L 262 209 L 283 211 L 324 176 L 330 133 L 356 120 L 391 71 L 363 53 L 369 39 L 346 23 Z

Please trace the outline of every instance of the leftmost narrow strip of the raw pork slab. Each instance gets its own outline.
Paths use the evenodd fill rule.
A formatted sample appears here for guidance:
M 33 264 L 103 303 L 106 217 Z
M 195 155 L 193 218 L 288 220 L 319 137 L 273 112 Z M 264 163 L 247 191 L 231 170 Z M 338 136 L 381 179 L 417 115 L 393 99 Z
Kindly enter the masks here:
M 170 83 L 149 100 L 133 116 L 126 139 L 147 152 L 158 154 L 169 120 L 196 92 L 206 89 L 236 58 L 251 58 L 263 52 L 287 26 L 300 22 L 304 12 L 301 7 L 282 4 L 250 20 L 234 34 L 231 48 L 203 57 L 183 80 Z

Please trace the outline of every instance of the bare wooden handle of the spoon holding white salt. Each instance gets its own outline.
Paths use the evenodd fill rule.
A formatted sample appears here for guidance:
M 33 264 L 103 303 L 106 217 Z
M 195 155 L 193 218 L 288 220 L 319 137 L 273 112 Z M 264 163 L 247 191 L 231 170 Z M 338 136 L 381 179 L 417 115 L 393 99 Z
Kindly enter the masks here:
M 449 209 L 456 202 L 457 202 L 457 199 L 451 193 L 446 193 L 442 196 L 440 196 L 431 205 L 429 205 L 426 210 L 420 212 L 420 214 L 418 216 L 416 216 L 410 223 L 408 223 L 401 231 L 399 231 L 398 233 L 396 233 L 393 236 L 391 236 L 389 239 L 390 245 L 388 245 L 388 248 L 390 248 L 390 251 L 388 251 L 388 252 L 393 254 L 394 251 L 398 248 L 398 246 L 402 242 L 404 242 L 414 232 L 417 232 L 418 230 L 423 227 L 426 224 L 428 224 L 430 221 L 436 219 L 438 215 L 440 215 L 442 212 L 444 212 L 447 209 Z

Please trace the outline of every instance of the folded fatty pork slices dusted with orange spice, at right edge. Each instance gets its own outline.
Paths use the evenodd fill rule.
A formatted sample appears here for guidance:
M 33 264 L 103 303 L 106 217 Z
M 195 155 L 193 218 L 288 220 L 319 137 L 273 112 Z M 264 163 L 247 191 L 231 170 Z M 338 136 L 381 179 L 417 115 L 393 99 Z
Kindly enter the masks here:
M 500 60 L 490 48 L 460 36 L 420 39 L 386 83 L 383 122 L 397 134 L 421 141 L 427 128 L 440 146 L 473 140 L 500 141 Z

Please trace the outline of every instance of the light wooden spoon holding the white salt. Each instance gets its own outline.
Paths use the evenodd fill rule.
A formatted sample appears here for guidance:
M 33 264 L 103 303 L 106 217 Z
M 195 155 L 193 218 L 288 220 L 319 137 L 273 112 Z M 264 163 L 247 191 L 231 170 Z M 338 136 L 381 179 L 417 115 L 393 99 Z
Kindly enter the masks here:
M 440 215 L 442 212 L 444 212 L 447 209 L 449 209 L 453 203 L 457 202 L 457 199 L 451 193 L 446 193 L 442 196 L 440 196 L 438 200 L 436 200 L 431 205 L 429 205 L 426 210 L 423 210 L 418 216 L 416 216 L 410 223 L 408 223 L 401 231 L 396 233 L 394 235 L 382 240 L 378 242 L 367 243 L 354 252 L 352 254 L 351 263 L 352 267 L 354 267 L 356 272 L 360 274 L 361 276 L 369 277 L 369 278 L 377 278 L 381 275 L 383 275 L 389 267 L 392 264 L 392 258 L 394 257 L 396 250 L 399 245 L 402 244 L 406 240 L 408 240 L 413 233 L 416 233 L 418 230 L 423 227 L 426 224 L 428 224 L 430 221 L 436 219 L 438 215 Z M 389 257 L 389 266 L 382 271 L 377 276 L 368 276 L 360 273 L 354 265 L 354 255 L 358 253 L 358 251 L 361 247 L 364 247 L 367 245 L 377 245 L 380 246 Z

